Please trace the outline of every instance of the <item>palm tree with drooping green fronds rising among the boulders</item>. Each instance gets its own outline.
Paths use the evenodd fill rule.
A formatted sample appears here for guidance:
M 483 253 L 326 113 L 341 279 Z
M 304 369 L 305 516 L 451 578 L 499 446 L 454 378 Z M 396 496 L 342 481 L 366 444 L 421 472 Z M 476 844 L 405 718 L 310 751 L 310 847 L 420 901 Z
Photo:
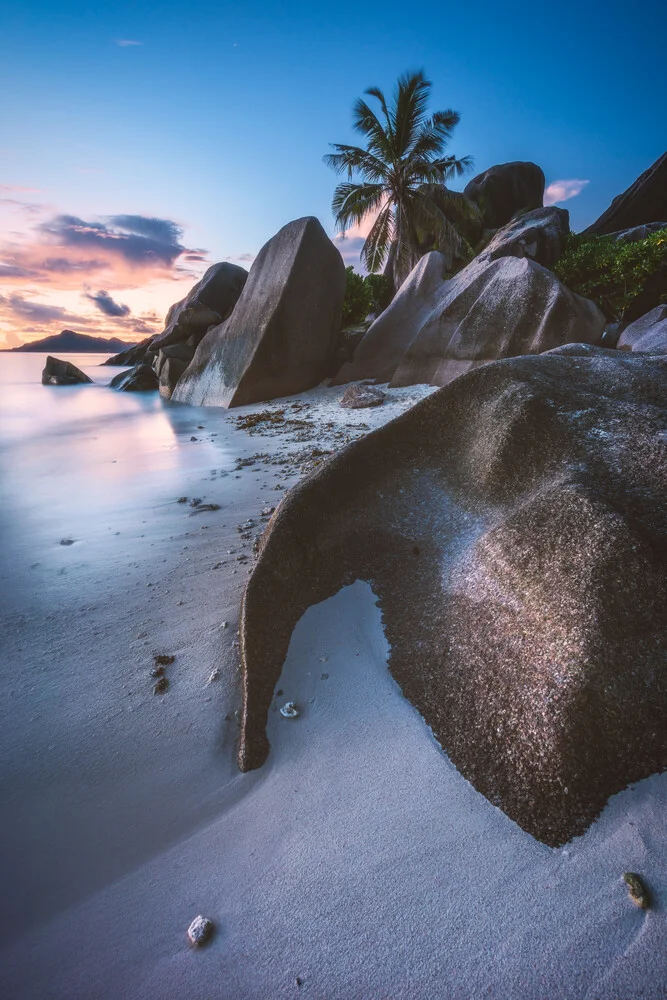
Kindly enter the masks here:
M 378 101 L 379 113 L 363 98 L 353 108 L 353 126 L 367 148 L 332 143 L 336 152 L 324 157 L 336 173 L 348 176 L 331 203 L 338 229 L 344 232 L 377 213 L 361 259 L 371 273 L 384 266 L 395 288 L 427 250 L 440 250 L 451 268 L 466 234 L 474 242 L 481 231 L 477 206 L 444 184 L 472 166 L 469 156 L 445 155 L 461 116 L 451 110 L 427 115 L 430 89 L 423 71 L 407 73 L 389 107 L 382 91 L 371 87 L 366 93 Z M 353 181 L 355 174 L 363 180 Z

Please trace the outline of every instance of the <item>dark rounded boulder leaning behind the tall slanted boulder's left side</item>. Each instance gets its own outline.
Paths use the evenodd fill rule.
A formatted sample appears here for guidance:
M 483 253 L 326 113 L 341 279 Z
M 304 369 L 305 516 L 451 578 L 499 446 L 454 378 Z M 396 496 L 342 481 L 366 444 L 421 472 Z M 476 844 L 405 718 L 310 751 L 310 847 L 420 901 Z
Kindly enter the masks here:
M 190 341 L 196 347 L 207 330 L 232 312 L 248 272 L 237 264 L 213 264 L 180 302 L 167 313 L 164 331 L 153 338 L 153 350 Z

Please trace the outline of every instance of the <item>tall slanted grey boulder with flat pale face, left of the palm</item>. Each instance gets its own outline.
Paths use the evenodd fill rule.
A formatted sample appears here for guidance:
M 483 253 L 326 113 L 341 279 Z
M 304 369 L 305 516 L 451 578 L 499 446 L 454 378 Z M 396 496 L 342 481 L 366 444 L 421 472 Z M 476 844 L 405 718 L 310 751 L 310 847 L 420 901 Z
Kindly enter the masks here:
M 345 294 L 342 257 L 317 219 L 290 222 L 262 247 L 229 319 L 199 344 L 173 399 L 241 406 L 326 377 Z

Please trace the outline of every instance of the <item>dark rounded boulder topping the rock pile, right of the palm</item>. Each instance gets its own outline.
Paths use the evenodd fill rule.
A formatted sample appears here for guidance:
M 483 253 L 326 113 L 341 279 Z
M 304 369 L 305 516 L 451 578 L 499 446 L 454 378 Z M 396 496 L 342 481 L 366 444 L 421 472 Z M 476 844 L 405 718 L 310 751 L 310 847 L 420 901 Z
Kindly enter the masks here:
M 463 193 L 481 209 L 484 228 L 497 229 L 515 212 L 541 208 L 544 183 L 544 173 L 536 163 L 499 163 L 474 177 Z

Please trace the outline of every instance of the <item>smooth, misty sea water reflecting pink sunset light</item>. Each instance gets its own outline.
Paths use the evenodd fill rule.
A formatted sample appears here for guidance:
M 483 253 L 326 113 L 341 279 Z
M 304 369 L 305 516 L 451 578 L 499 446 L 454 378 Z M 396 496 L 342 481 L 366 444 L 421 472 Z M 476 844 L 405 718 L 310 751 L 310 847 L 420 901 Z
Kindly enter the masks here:
M 171 497 L 188 469 L 229 462 L 225 411 L 114 391 L 108 384 L 125 369 L 103 366 L 105 355 L 63 357 L 94 384 L 43 386 L 45 354 L 0 354 L 0 499 L 23 528 L 106 522 Z

